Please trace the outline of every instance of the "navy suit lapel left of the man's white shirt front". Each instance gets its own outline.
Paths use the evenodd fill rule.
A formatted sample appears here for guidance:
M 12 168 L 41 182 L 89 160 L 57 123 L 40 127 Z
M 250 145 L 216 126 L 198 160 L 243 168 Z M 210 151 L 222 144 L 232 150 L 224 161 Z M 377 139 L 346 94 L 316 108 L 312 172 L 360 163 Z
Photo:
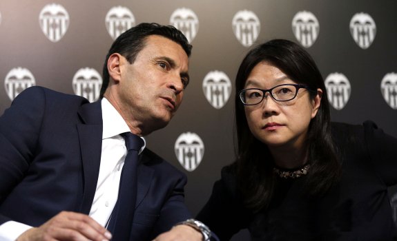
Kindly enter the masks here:
M 93 204 L 99 176 L 102 147 L 101 102 L 83 105 L 79 109 L 82 120 L 77 125 L 79 132 L 81 160 L 83 166 L 84 193 L 81 202 L 81 213 L 88 214 Z

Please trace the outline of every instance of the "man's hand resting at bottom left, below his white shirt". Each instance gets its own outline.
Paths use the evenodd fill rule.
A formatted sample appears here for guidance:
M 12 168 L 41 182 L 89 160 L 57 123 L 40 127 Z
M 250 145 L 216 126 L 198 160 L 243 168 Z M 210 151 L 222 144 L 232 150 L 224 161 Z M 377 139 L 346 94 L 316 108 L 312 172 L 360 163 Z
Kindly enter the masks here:
M 28 229 L 17 241 L 35 240 L 110 240 L 112 235 L 93 218 L 81 213 L 62 211 L 37 228 Z

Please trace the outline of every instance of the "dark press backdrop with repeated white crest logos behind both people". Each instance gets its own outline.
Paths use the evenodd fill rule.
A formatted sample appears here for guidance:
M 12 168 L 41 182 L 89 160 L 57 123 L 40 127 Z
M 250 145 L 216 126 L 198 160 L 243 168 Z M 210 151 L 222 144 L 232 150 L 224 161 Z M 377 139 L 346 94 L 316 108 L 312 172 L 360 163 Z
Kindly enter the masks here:
M 325 78 L 333 121 L 371 119 L 397 136 L 396 9 L 394 0 L 1 0 L 0 113 L 31 85 L 95 101 L 115 37 L 137 23 L 175 25 L 193 44 L 191 83 L 173 121 L 146 139 L 187 174 L 195 215 L 233 161 L 234 78 L 257 43 L 300 43 Z

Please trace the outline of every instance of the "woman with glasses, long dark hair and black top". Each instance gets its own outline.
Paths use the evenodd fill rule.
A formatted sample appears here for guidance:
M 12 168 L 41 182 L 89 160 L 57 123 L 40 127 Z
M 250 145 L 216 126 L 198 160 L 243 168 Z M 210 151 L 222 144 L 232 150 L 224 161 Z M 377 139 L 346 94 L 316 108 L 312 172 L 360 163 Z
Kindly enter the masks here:
M 235 81 L 238 147 L 197 219 L 220 240 L 394 240 L 387 187 L 397 139 L 374 123 L 330 123 L 325 84 L 300 45 L 251 50 Z

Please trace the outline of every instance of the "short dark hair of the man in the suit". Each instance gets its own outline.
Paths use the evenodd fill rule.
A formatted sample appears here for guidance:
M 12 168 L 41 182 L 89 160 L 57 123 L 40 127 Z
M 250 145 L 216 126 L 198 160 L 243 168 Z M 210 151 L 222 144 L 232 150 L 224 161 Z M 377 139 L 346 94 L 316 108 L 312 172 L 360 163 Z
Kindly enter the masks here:
M 103 83 L 99 98 L 104 96 L 106 88 L 109 84 L 108 59 L 110 55 L 119 53 L 122 54 L 122 56 L 124 56 L 129 63 L 134 63 L 138 53 L 145 46 L 146 38 L 151 35 L 159 35 L 164 36 L 167 39 L 171 39 L 175 43 L 181 45 L 188 56 L 191 55 L 192 45 L 188 43 L 186 36 L 184 36 L 180 30 L 177 30 L 171 25 L 160 25 L 158 23 L 139 23 L 135 27 L 130 28 L 126 32 L 120 34 L 120 36 L 117 37 L 110 47 L 103 67 Z

